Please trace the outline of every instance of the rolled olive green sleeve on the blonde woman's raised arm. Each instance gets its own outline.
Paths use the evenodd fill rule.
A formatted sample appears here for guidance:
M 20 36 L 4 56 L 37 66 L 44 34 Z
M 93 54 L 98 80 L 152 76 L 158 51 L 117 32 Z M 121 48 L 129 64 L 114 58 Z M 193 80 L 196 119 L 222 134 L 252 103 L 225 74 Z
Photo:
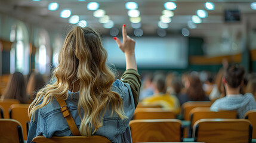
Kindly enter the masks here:
M 135 107 L 137 107 L 141 86 L 140 74 L 138 74 L 138 71 L 134 69 L 128 69 L 125 70 L 121 80 L 122 82 L 128 83 L 130 85 L 132 96 L 134 98 L 134 104 Z

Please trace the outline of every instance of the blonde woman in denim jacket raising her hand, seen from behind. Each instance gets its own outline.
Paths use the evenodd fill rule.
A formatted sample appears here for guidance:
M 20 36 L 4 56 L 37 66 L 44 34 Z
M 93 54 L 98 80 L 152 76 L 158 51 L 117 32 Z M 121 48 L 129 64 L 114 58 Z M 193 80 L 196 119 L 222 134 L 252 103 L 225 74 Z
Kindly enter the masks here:
M 111 142 L 131 142 L 129 120 L 138 104 L 140 75 L 135 62 L 135 41 L 122 27 L 126 71 L 115 80 L 106 65 L 107 52 L 95 30 L 75 27 L 64 41 L 54 70 L 56 80 L 36 95 L 29 107 L 27 142 L 35 136 L 101 135 Z M 63 106 L 64 104 L 64 106 Z M 66 112 L 69 110 L 69 112 Z M 77 128 L 69 128 L 72 118 Z

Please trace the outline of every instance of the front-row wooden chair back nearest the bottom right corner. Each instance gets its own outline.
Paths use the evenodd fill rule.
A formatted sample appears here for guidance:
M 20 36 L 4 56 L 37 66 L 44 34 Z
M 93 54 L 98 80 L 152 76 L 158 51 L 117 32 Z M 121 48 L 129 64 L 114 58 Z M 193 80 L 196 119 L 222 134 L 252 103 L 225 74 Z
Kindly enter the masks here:
M 252 125 L 246 119 L 201 119 L 193 126 L 193 138 L 207 143 L 252 141 Z

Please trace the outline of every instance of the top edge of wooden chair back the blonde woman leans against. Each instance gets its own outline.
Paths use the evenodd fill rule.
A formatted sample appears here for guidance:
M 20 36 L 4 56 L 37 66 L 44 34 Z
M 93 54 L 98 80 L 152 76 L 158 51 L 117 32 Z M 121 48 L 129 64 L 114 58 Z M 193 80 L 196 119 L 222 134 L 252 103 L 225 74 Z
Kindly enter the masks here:
M 53 136 L 52 138 L 45 138 L 44 136 L 36 136 L 33 138 L 32 142 L 35 143 L 84 143 L 84 142 L 97 142 L 97 143 L 111 143 L 109 139 L 104 136 Z

